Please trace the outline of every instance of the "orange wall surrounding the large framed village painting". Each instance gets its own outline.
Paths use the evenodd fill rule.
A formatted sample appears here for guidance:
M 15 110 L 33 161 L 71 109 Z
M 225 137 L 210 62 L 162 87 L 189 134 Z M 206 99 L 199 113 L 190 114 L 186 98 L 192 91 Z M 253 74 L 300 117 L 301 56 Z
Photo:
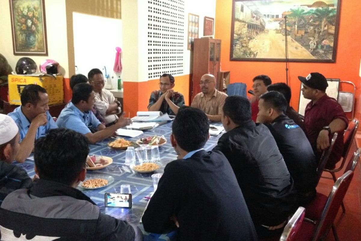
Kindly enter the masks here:
M 357 87 L 356 101 L 360 100 L 359 76 L 361 58 L 361 1 L 342 1 L 338 48 L 335 63 L 290 63 L 288 81 L 292 90 L 291 105 L 298 109 L 301 83 L 297 76 L 320 72 L 326 78 L 351 81 Z M 252 78 L 258 74 L 270 76 L 273 83 L 286 82 L 285 63 L 259 61 L 230 61 L 232 0 L 216 0 L 215 38 L 222 40 L 222 70 L 231 72 L 230 82 L 244 82 L 251 89 Z M 360 106 L 359 103 L 356 106 Z M 361 106 L 360 106 L 361 107 Z M 361 117 L 357 108 L 357 116 Z

